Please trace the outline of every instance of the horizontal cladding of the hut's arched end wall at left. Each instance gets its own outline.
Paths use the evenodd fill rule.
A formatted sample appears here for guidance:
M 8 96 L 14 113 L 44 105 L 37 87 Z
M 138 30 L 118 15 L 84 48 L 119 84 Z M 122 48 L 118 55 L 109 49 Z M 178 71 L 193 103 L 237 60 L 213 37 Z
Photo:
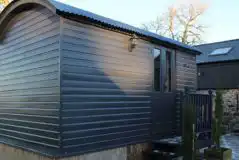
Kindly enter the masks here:
M 59 35 L 60 18 L 41 7 L 9 22 L 0 43 L 0 142 L 45 154 L 60 148 Z

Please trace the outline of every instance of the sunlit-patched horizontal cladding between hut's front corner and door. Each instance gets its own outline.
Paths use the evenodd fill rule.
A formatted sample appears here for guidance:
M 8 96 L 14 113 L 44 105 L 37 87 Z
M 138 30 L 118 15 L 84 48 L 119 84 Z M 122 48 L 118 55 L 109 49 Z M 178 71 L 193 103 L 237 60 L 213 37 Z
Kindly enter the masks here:
M 63 19 L 62 148 L 79 153 L 150 139 L 152 46 Z

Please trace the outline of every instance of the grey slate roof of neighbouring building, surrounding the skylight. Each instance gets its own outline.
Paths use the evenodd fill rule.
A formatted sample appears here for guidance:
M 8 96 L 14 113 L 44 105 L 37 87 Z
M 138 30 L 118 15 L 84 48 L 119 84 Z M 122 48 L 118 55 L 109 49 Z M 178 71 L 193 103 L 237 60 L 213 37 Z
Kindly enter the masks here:
M 239 60 L 239 39 L 208 43 L 195 47 L 202 52 L 201 55 L 197 56 L 198 64 Z M 232 49 L 227 54 L 210 55 L 216 49 L 229 47 Z

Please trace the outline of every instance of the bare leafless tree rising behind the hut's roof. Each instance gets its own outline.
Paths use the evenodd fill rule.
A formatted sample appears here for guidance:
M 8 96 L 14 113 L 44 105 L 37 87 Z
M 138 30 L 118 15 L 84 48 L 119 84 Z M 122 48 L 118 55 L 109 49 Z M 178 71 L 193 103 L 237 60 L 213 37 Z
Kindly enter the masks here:
M 199 19 L 206 11 L 205 5 L 181 5 L 169 7 L 168 11 L 156 20 L 143 24 L 143 29 L 194 45 L 202 42 L 205 26 Z

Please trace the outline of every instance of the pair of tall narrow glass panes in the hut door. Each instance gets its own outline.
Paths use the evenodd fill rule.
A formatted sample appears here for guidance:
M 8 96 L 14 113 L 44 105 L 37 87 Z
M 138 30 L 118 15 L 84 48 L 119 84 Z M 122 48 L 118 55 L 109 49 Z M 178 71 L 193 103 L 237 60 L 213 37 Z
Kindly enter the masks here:
M 154 49 L 154 89 L 155 91 L 172 91 L 172 52 Z

